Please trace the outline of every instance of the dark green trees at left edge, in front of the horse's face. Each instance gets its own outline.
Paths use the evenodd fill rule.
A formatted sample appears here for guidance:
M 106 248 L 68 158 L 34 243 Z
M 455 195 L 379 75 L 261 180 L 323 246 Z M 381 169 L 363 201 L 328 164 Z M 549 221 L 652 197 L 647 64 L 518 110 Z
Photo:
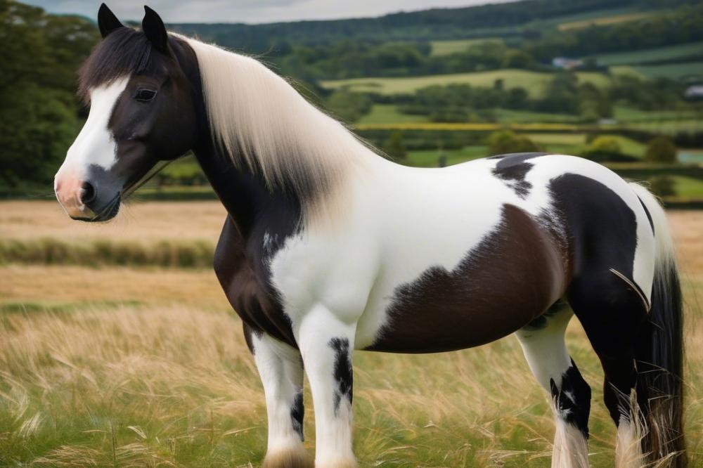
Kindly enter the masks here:
M 84 18 L 0 0 L 0 185 L 51 187 L 79 131 L 76 70 L 99 38 Z

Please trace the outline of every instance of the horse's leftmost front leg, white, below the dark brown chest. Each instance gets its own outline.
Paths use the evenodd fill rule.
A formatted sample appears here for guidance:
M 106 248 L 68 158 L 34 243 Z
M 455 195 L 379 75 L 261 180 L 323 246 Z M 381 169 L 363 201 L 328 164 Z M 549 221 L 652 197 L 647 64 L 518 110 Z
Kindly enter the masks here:
M 245 334 L 266 394 L 269 446 L 264 468 L 312 467 L 302 444 L 303 365 L 299 351 L 247 327 Z

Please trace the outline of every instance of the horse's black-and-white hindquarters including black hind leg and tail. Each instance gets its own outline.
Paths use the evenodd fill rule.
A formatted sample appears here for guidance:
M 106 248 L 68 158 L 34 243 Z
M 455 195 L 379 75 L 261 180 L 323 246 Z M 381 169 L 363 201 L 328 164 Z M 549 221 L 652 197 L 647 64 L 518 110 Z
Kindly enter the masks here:
M 666 216 L 624 181 L 569 174 L 551 189 L 572 256 L 567 297 L 605 373 L 618 466 L 681 467 L 681 306 L 671 248 L 661 248 Z

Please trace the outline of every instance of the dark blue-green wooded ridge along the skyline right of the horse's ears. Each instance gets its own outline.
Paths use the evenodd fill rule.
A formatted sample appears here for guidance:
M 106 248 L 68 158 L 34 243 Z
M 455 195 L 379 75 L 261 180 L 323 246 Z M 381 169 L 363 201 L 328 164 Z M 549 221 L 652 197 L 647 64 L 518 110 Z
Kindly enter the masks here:
M 591 21 L 617 10 L 637 15 L 653 8 L 694 4 L 695 0 L 527 0 L 467 8 L 432 8 L 400 12 L 378 18 L 277 22 L 262 25 L 243 23 L 183 23 L 170 25 L 184 34 L 196 34 L 207 41 L 250 52 L 264 52 L 285 40 L 301 44 L 325 44 L 342 39 L 367 41 L 423 41 L 483 37 L 489 32 L 501 36 L 522 33 L 532 22 Z M 594 14 L 595 13 L 595 14 Z

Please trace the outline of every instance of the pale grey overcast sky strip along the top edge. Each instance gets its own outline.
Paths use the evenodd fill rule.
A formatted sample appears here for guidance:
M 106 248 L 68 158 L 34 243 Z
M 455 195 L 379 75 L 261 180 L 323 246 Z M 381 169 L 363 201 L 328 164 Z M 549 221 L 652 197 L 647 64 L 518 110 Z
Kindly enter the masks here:
M 51 13 L 95 18 L 101 1 L 22 0 Z M 512 0 L 108 0 L 121 20 L 140 20 L 146 3 L 165 22 L 276 22 L 379 16 L 442 6 L 472 6 Z

